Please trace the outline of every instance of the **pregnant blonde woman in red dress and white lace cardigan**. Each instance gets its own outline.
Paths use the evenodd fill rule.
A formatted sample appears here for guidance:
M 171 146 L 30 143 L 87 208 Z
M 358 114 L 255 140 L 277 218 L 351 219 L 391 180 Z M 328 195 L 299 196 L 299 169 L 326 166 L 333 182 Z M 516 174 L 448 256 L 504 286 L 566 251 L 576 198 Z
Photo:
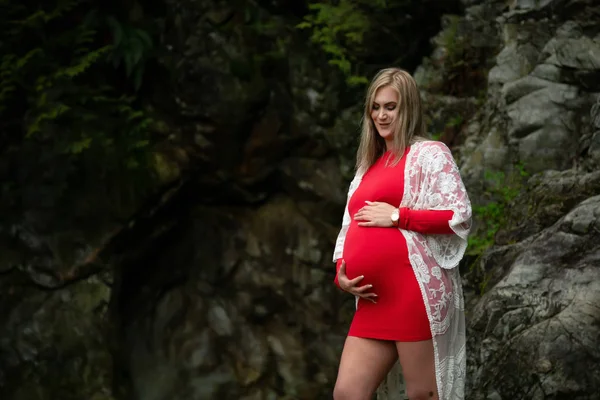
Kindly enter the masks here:
M 449 149 L 425 139 L 419 90 L 380 71 L 367 90 L 335 283 L 356 296 L 333 397 L 464 399 L 457 265 L 471 206 Z

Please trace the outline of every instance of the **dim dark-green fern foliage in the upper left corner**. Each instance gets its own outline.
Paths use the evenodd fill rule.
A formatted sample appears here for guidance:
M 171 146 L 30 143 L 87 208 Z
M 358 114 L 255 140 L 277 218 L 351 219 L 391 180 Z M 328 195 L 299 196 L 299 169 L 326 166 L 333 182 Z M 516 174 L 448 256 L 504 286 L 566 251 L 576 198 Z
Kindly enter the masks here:
M 88 0 L 14 0 L 0 2 L 0 35 L 4 140 L 35 141 L 46 158 L 67 155 L 98 173 L 143 165 L 152 117 L 135 91 L 153 46 L 147 32 Z

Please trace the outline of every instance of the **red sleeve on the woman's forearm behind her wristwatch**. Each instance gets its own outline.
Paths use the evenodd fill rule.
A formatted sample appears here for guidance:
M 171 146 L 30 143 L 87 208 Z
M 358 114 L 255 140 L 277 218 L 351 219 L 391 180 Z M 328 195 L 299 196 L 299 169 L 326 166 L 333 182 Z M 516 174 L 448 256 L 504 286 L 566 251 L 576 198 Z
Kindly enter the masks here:
M 454 233 L 450 228 L 453 215 L 451 210 L 412 210 L 402 207 L 398 228 L 429 235 L 449 235 Z

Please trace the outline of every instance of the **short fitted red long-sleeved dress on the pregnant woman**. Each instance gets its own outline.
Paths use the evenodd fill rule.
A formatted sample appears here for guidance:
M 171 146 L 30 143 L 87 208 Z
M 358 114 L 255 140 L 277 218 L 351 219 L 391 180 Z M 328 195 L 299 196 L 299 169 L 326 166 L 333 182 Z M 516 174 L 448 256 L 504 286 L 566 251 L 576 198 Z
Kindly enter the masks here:
M 349 336 L 403 342 L 431 339 L 424 299 L 408 260 L 404 235 L 395 227 L 361 227 L 354 221 L 354 214 L 366 205 L 365 201 L 400 205 L 407 152 L 408 149 L 396 166 L 386 166 L 390 152 L 380 157 L 365 173 L 348 204 L 352 221 L 337 269 L 345 260 L 348 278 L 364 275 L 359 286 L 372 284 L 371 290 L 377 294 L 376 304 L 359 299 Z M 452 215 L 452 211 L 445 210 L 402 208 L 399 228 L 425 234 L 451 234 L 448 222 Z

